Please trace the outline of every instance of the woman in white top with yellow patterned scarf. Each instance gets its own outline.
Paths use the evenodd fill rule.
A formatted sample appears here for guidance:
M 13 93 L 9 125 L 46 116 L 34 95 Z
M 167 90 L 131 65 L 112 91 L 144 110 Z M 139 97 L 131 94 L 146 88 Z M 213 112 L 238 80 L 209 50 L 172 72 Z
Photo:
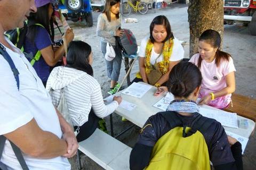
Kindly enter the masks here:
M 148 81 L 150 72 L 157 65 L 162 76 L 155 80 L 154 85 L 160 87 L 169 79 L 172 67 L 178 64 L 184 55 L 180 41 L 173 36 L 171 25 L 164 15 L 156 16 L 150 24 L 150 37 L 142 39 L 139 52 L 139 68 L 133 82 Z

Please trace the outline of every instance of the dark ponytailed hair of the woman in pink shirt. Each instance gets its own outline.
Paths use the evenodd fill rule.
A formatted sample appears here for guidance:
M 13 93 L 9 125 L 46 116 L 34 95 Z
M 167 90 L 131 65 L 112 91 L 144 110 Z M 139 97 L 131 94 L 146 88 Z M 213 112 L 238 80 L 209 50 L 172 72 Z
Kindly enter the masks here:
M 216 54 L 215 54 L 215 64 L 217 67 L 220 65 L 221 60 L 229 61 L 229 57 L 231 57 L 230 54 L 226 52 L 222 52 L 220 50 L 221 45 L 221 37 L 219 32 L 209 29 L 204 31 L 201 36 L 199 37 L 199 41 L 205 41 L 205 43 L 210 44 L 212 47 L 217 48 Z M 201 67 L 202 58 L 198 58 L 198 67 Z

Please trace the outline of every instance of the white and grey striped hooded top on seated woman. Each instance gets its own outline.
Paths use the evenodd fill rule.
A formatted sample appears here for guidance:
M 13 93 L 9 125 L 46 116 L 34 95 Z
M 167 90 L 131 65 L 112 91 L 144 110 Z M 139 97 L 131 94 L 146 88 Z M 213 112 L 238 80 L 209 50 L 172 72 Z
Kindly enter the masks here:
M 103 118 L 118 107 L 117 101 L 108 105 L 103 103 L 100 84 L 83 71 L 63 66 L 55 67 L 46 85 L 55 107 L 60 103 L 62 88 L 74 126 L 82 126 L 88 121 L 91 108 L 95 115 Z

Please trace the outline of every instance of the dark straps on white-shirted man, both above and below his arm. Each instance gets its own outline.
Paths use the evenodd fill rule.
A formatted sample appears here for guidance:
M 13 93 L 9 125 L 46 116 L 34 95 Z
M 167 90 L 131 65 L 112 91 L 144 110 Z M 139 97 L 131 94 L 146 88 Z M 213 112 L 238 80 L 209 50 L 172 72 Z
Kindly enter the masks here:
M 19 71 L 16 69 L 13 61 L 12 61 L 12 58 L 10 57 L 10 55 L 6 52 L 5 50 L 5 47 L 0 44 L 0 54 L 5 58 L 5 60 L 9 63 L 11 69 L 12 69 L 12 72 L 13 72 L 13 75 L 14 75 L 14 78 L 17 82 L 17 87 L 18 87 L 18 90 L 20 88 L 20 80 L 19 80 Z M 6 141 L 6 138 L 4 137 L 4 135 L 0 135 L 0 160 L 1 160 L 1 157 L 2 157 L 2 154 L 3 154 L 3 150 L 4 150 L 4 146 L 5 146 L 5 141 Z M 11 143 L 11 146 L 12 146 L 12 149 L 13 149 L 13 152 L 15 154 L 15 156 L 17 157 L 21 167 L 23 170 L 29 170 L 28 169 L 28 166 L 25 162 L 25 159 L 23 158 L 23 155 L 21 154 L 21 150 L 16 146 L 14 145 L 14 143 Z

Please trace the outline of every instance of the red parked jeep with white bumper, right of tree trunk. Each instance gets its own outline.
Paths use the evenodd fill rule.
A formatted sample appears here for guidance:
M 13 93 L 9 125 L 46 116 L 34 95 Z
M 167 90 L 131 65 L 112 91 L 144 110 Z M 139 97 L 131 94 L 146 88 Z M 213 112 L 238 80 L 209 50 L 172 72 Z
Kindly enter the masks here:
M 256 0 L 224 0 L 224 21 L 248 25 L 251 35 L 256 36 Z

